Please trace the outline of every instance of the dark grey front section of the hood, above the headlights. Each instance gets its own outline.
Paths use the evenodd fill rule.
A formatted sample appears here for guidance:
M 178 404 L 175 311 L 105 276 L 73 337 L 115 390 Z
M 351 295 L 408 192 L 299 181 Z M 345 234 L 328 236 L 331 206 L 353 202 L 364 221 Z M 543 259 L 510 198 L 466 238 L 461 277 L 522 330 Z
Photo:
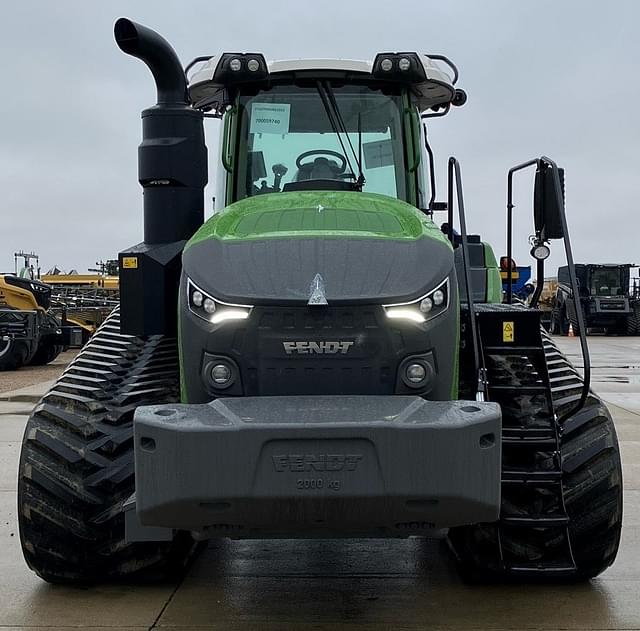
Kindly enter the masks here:
M 345 237 L 206 239 L 184 253 L 184 272 L 224 302 L 307 304 L 316 275 L 329 304 L 410 301 L 451 274 L 448 244 Z

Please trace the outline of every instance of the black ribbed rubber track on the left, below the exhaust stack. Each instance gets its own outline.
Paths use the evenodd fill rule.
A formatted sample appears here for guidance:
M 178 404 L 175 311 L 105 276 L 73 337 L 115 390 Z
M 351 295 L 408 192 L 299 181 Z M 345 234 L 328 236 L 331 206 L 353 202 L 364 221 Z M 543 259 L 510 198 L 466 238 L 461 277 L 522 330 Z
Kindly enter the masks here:
M 122 335 L 114 311 L 27 422 L 18 519 L 29 567 L 49 582 L 164 577 L 195 551 L 125 541 L 124 502 L 134 492 L 136 407 L 178 400 L 175 339 Z

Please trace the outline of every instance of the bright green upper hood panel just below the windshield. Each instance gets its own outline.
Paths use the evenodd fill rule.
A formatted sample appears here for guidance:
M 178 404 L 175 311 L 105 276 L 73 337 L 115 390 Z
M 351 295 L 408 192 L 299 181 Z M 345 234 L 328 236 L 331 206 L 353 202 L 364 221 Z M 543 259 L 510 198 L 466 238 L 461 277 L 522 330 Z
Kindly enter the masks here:
M 446 236 L 422 212 L 392 197 L 345 191 L 300 191 L 247 197 L 214 215 L 187 248 L 207 239 L 287 237 L 416 240 Z

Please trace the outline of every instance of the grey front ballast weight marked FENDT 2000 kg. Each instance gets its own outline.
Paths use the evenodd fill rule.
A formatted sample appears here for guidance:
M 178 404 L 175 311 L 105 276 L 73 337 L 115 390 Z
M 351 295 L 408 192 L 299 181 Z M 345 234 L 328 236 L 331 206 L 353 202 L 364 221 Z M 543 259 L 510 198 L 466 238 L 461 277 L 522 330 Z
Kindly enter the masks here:
M 238 538 L 402 537 L 495 521 L 500 431 L 495 403 L 416 396 L 140 407 L 128 537 L 145 537 L 134 521 Z

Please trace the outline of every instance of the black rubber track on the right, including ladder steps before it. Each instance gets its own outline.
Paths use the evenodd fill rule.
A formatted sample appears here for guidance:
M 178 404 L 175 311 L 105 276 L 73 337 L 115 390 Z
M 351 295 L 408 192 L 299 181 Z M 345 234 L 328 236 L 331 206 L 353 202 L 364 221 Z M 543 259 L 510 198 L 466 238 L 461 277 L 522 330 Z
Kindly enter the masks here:
M 481 327 L 482 328 L 482 327 Z M 489 394 L 503 414 L 502 508 L 497 524 L 452 529 L 449 542 L 470 579 L 583 580 L 618 549 L 622 473 L 615 429 L 551 338 L 485 348 Z

